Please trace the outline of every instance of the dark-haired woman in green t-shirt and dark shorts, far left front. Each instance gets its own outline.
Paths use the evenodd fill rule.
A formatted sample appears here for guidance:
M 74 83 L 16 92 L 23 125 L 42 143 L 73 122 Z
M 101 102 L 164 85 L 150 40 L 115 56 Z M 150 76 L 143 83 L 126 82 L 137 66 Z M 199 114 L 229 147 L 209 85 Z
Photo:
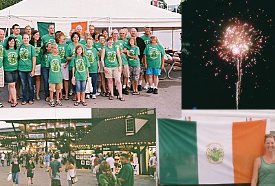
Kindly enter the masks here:
M 12 103 L 11 107 L 17 106 L 17 90 L 15 84 L 18 80 L 18 57 L 19 50 L 17 50 L 17 45 L 14 37 L 9 37 L 7 39 L 7 45 L 4 49 L 3 54 L 3 67 L 5 72 L 5 82 L 8 83 L 9 87 L 9 103 Z

